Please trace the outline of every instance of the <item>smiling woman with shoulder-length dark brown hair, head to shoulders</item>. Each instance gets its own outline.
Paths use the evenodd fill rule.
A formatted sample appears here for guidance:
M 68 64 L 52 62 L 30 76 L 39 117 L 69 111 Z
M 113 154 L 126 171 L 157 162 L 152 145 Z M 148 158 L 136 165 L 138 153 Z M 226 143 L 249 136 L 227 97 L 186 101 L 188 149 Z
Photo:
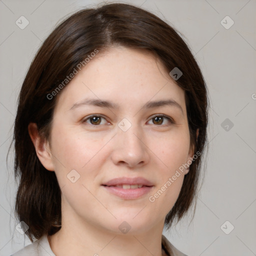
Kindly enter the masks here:
M 196 193 L 207 91 L 185 42 L 122 3 L 43 42 L 14 127 L 20 255 L 185 255 L 163 235 Z

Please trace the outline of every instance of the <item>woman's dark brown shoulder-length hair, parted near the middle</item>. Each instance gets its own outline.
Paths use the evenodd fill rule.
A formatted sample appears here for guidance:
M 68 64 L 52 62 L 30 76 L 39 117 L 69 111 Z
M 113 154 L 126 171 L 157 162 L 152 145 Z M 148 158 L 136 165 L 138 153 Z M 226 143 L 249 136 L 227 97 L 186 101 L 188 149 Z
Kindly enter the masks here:
M 179 196 L 166 215 L 167 227 L 174 218 L 179 220 L 184 215 L 195 197 L 206 145 L 208 100 L 203 76 L 188 46 L 170 25 L 142 8 L 111 3 L 82 9 L 62 21 L 42 43 L 19 94 L 13 135 L 14 174 L 16 180 L 20 178 L 15 214 L 29 226 L 25 234 L 31 241 L 60 229 L 61 193 L 55 172 L 47 171 L 36 155 L 28 124 L 35 122 L 39 133 L 49 138 L 53 109 L 61 91 L 52 99 L 47 95 L 95 48 L 103 51 L 115 44 L 149 50 L 166 70 L 178 67 L 182 71 L 176 83 L 185 91 L 190 145 L 201 155 L 184 176 Z

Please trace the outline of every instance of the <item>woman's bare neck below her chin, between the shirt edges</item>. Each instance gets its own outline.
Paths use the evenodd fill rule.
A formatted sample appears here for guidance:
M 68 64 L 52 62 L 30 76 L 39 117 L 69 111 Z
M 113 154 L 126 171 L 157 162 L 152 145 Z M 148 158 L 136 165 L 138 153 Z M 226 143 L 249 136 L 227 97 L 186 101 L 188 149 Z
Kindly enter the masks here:
M 126 234 L 62 216 L 61 229 L 49 237 L 51 250 L 56 256 L 161 256 L 163 223 L 144 232 Z

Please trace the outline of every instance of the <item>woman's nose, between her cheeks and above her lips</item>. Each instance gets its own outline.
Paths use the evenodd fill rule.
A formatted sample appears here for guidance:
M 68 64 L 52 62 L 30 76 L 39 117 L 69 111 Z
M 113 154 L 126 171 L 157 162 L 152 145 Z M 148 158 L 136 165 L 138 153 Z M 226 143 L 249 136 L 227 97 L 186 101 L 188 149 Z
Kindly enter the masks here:
M 114 136 L 111 159 L 116 165 L 126 165 L 129 168 L 143 166 L 149 162 L 149 148 L 146 145 L 141 128 L 131 125 L 123 131 L 117 128 Z

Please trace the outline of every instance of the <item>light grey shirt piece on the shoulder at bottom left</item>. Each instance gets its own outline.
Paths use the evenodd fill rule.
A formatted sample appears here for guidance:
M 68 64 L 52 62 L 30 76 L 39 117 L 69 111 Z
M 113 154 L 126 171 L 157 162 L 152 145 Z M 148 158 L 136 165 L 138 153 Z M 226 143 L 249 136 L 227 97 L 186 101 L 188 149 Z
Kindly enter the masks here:
M 10 256 L 28 256 L 28 255 L 55 256 L 55 254 L 50 249 L 46 234 L 44 234 L 40 239 L 34 241 L 33 243 L 11 254 Z

